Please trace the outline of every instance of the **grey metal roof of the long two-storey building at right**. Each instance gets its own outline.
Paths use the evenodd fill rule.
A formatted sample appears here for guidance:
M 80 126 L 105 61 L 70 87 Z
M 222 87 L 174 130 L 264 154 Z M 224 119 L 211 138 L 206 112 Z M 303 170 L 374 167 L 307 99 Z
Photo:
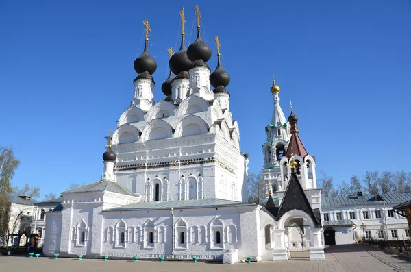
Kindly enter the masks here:
M 387 193 L 379 194 L 384 201 L 376 201 L 379 199 L 377 195 L 362 195 L 352 197 L 323 197 L 321 199 L 322 208 L 336 208 L 343 206 L 371 206 L 377 204 L 398 205 L 411 200 L 411 193 Z

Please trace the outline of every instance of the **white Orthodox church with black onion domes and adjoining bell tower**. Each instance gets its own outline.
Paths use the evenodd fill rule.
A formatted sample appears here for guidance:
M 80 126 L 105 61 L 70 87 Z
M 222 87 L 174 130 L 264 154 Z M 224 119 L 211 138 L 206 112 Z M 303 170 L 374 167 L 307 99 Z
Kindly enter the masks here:
M 180 12 L 181 47 L 171 55 L 162 84 L 166 97 L 157 103 L 157 64 L 145 21 L 134 97 L 106 137 L 101 180 L 64 191 L 62 203 L 47 212 L 45 255 L 288 260 L 290 242 L 302 239 L 310 260 L 324 260 L 321 192 L 297 116 L 285 119 L 274 82 L 263 146 L 268 199 L 265 206 L 247 203 L 248 156 L 240 151 L 238 122 L 229 110 L 230 77 L 221 66 L 218 38 L 218 64 L 213 72 L 208 67 L 212 50 L 201 39 L 195 11 L 197 39 L 187 49 Z

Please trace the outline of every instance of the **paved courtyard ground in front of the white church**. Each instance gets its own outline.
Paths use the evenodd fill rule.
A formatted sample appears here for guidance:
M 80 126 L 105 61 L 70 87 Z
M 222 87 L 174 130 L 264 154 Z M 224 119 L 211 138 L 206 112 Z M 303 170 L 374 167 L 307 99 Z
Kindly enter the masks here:
M 386 254 L 377 249 L 363 245 L 339 245 L 326 249 L 327 260 L 310 262 L 304 260 L 307 254 L 293 253 L 293 260 L 288 262 L 258 262 L 251 264 L 225 265 L 219 263 L 199 262 L 151 262 L 132 260 L 75 260 L 71 258 L 38 258 L 22 256 L 1 256 L 0 271 L 7 272 L 82 272 L 82 271 L 411 271 L 411 259 Z

